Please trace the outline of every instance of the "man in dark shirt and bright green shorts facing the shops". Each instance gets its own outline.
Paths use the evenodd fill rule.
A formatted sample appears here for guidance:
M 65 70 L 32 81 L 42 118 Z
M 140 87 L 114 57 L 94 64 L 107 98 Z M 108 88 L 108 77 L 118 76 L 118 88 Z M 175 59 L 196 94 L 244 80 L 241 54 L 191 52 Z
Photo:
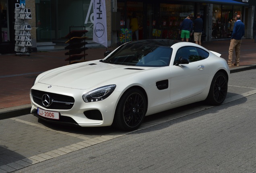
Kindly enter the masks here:
M 186 42 L 188 42 L 188 39 L 190 38 L 193 30 L 193 21 L 192 21 L 192 14 L 190 14 L 187 18 L 185 18 L 182 21 L 182 24 L 180 25 L 180 31 L 179 33 L 180 38 L 182 38 L 182 41 L 184 41 L 184 38 L 186 38 Z M 190 33 L 191 32 L 191 33 Z

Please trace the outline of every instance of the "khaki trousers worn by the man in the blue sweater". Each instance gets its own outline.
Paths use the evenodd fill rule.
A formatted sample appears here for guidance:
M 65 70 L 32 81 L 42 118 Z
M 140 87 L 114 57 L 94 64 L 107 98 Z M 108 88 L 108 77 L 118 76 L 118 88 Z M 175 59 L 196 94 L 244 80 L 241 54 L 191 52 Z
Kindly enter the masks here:
M 227 63 L 229 65 L 232 64 L 232 59 L 233 59 L 233 51 L 235 50 L 235 64 L 239 65 L 240 62 L 240 47 L 241 47 L 242 40 L 235 40 L 231 39 L 230 40 L 230 45 L 229 45 L 229 60 Z

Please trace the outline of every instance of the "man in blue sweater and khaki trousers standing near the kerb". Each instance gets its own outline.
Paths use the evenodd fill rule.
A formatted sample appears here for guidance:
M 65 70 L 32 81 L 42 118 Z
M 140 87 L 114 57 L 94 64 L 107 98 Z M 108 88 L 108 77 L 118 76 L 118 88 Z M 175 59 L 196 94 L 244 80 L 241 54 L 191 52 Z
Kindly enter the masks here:
M 227 61 L 229 66 L 239 66 L 240 62 L 240 47 L 242 43 L 242 36 L 244 36 L 244 23 L 241 21 L 241 16 L 235 16 L 235 24 L 231 35 L 229 45 L 229 60 Z M 235 50 L 235 64 L 232 64 L 233 51 Z

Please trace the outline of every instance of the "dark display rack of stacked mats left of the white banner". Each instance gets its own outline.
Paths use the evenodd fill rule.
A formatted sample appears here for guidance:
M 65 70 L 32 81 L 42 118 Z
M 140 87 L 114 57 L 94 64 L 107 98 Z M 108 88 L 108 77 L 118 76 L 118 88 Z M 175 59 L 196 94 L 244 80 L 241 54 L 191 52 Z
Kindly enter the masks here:
M 77 28 L 82 28 L 83 30 L 72 30 Z M 69 61 L 69 64 L 85 61 L 85 56 L 88 55 L 85 53 L 85 50 L 88 49 L 85 47 L 87 44 L 85 40 L 88 38 L 85 36 L 87 32 L 88 31 L 85 30 L 85 26 L 69 27 L 69 33 L 65 37 L 68 38 L 68 40 L 65 42 L 68 44 L 68 46 L 65 47 L 65 50 L 68 50 L 68 52 L 66 52 L 65 55 L 69 56 L 65 59 L 65 61 Z M 84 58 L 84 60 L 81 60 L 82 58 Z

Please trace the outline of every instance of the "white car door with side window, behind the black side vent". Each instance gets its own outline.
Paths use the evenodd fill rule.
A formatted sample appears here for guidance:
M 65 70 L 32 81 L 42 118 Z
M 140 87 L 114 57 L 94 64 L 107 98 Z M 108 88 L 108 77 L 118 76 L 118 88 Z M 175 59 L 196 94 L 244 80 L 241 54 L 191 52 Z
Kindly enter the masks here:
M 170 66 L 171 103 L 189 99 L 204 91 L 209 78 L 209 64 L 205 60 L 208 56 L 208 52 L 194 46 L 182 47 L 176 52 L 173 66 Z M 177 65 L 180 57 L 187 58 L 189 64 Z

